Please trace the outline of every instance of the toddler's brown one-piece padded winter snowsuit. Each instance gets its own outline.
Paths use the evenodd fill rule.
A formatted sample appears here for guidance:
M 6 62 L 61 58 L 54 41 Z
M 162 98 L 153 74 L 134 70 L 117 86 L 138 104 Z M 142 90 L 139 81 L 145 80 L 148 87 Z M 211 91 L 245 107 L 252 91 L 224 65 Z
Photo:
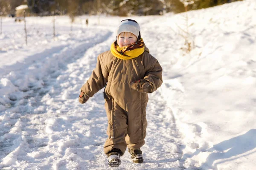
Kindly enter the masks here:
M 92 97 L 105 87 L 105 109 L 108 116 L 108 139 L 105 153 L 113 148 L 139 149 L 145 144 L 146 106 L 148 94 L 133 90 L 131 82 L 145 79 L 153 85 L 153 91 L 162 84 L 162 67 L 145 48 L 143 54 L 133 59 L 119 59 L 111 51 L 99 55 L 96 68 L 81 90 Z

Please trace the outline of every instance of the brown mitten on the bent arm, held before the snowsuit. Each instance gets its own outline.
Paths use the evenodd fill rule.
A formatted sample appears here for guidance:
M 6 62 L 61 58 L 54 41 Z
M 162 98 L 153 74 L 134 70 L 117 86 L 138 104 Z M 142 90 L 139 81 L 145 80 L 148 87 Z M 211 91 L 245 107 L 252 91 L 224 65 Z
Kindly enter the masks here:
M 151 93 L 153 91 L 153 85 L 144 79 L 140 79 L 135 82 L 132 82 L 131 88 L 141 93 Z

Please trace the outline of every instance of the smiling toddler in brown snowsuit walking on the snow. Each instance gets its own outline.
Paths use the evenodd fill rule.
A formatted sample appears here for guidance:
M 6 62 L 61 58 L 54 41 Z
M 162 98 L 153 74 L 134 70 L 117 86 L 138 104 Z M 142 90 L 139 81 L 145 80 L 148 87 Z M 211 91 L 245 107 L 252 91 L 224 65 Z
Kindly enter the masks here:
M 126 147 L 135 163 L 142 163 L 145 144 L 148 93 L 162 84 L 162 67 L 149 54 L 135 20 L 122 20 L 111 50 L 99 54 L 96 68 L 81 87 L 79 102 L 85 103 L 105 87 L 108 139 L 104 152 L 108 164 L 118 167 Z

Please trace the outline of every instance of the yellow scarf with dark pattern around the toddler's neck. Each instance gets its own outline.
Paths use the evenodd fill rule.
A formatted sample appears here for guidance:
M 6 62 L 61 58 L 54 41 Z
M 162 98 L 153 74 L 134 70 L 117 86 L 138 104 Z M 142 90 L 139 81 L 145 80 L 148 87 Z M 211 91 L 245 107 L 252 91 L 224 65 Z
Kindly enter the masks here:
M 142 38 L 139 41 L 125 47 L 119 47 L 115 41 L 111 44 L 110 51 L 115 57 L 119 59 L 132 59 L 143 54 L 145 50 L 144 45 L 145 44 Z

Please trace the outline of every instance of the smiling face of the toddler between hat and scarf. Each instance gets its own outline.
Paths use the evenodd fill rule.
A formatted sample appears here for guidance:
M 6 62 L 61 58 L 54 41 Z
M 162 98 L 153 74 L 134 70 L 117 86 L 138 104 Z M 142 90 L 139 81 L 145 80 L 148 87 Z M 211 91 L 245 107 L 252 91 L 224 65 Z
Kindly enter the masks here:
M 117 44 L 119 45 L 119 47 L 131 45 L 134 42 L 137 42 L 137 37 L 130 32 L 122 32 L 117 38 Z

